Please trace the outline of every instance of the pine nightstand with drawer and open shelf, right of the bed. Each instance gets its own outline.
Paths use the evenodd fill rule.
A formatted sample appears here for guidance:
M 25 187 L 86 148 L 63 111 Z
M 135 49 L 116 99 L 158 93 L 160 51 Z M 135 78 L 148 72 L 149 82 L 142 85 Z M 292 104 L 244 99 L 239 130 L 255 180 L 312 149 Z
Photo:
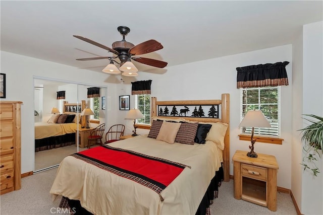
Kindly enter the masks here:
M 277 210 L 277 169 L 275 156 L 258 154 L 249 158 L 248 152 L 237 150 L 234 161 L 234 197 Z

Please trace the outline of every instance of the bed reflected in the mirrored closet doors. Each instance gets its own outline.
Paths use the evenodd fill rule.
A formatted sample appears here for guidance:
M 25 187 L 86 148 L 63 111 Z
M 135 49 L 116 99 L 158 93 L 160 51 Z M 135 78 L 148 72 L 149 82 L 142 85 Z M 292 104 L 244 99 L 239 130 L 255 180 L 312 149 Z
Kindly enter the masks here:
M 81 127 L 78 123 L 80 112 L 84 107 L 84 100 L 81 105 L 65 101 L 63 114 L 52 114 L 47 122 L 35 122 L 35 152 L 74 145 L 75 133 Z

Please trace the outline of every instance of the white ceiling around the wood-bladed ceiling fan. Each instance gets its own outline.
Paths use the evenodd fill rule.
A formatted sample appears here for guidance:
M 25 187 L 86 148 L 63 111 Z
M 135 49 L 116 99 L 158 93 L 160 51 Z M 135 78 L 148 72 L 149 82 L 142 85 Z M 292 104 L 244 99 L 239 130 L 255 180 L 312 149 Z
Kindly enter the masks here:
M 128 42 L 164 46 L 143 57 L 173 66 L 290 44 L 322 14 L 322 1 L 1 1 L 1 50 L 101 72 L 107 59 L 75 59 L 113 54 L 73 35 L 112 48 L 127 26 Z

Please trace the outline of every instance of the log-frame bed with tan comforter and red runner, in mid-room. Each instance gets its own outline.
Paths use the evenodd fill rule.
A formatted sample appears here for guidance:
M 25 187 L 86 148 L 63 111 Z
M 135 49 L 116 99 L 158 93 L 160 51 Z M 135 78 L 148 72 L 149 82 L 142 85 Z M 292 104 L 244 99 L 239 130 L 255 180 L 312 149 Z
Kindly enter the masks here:
M 149 134 L 66 157 L 50 193 L 68 198 L 72 208 L 79 202 L 82 208 L 77 210 L 93 214 L 207 214 L 219 184 L 229 181 L 229 94 L 223 94 L 221 100 L 199 101 L 159 102 L 153 97 L 151 103 L 155 120 Z M 190 104 L 219 104 L 221 119 L 157 116 L 159 106 Z M 153 138 L 155 125 L 160 123 Z M 186 138 L 184 142 L 168 142 L 175 126 L 179 127 L 177 138 L 183 131 L 181 126 L 211 124 L 216 129 L 217 123 L 226 125 L 220 145 L 205 136 L 204 144 L 197 144 L 195 139 L 192 145 L 191 140 L 183 144 Z M 164 125 L 172 128 L 165 137 Z M 217 131 L 211 128 L 209 132 Z

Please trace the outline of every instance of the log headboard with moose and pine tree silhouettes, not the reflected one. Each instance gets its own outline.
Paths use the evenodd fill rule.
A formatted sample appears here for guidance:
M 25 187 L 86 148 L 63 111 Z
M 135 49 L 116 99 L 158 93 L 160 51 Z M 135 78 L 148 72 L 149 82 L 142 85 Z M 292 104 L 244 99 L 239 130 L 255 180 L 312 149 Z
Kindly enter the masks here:
M 230 94 L 222 94 L 219 100 L 184 100 L 184 101 L 157 101 L 156 97 L 151 97 L 151 117 L 158 116 L 158 105 L 160 106 L 173 106 L 173 105 L 220 105 L 221 118 L 202 118 L 202 117 L 185 117 L 181 118 L 190 121 L 199 122 L 223 122 L 228 124 L 228 129 L 224 138 L 225 148 L 223 150 L 223 171 L 224 181 L 230 180 Z M 174 116 L 163 116 L 163 118 L 178 118 Z

